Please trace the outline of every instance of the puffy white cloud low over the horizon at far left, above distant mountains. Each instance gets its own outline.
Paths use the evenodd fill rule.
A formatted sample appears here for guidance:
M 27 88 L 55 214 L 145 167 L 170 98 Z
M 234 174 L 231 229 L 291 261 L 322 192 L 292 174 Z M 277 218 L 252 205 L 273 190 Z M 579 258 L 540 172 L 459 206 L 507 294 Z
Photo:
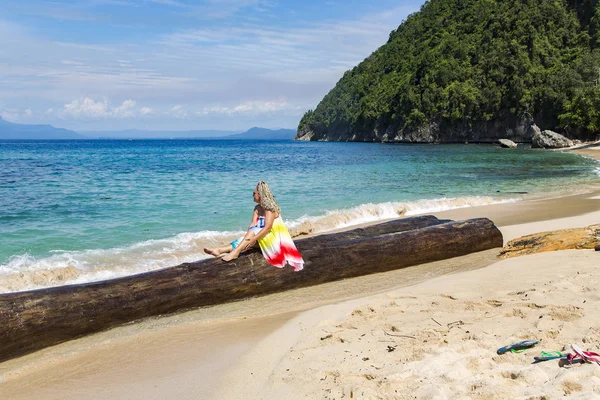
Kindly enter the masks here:
M 89 97 L 82 97 L 65 104 L 58 112 L 61 118 L 95 119 L 95 118 L 134 118 L 148 115 L 152 110 L 148 107 L 136 108 L 135 100 L 125 100 L 120 106 L 113 107 L 108 99 L 95 101 Z M 48 109 L 48 113 L 54 112 Z

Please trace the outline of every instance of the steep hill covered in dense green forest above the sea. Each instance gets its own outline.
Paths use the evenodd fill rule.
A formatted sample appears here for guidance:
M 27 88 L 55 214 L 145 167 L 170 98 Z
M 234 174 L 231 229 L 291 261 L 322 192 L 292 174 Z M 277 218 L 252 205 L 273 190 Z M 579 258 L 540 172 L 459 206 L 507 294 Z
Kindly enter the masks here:
M 598 0 L 430 0 L 347 71 L 298 139 L 390 142 L 600 133 Z

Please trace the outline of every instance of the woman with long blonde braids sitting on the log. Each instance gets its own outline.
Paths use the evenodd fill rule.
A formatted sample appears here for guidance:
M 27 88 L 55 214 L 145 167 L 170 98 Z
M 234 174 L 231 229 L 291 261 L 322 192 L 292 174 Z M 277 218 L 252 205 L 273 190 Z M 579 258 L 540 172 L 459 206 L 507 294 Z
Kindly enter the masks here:
M 281 219 L 281 210 L 267 182 L 261 181 L 256 185 L 254 202 L 258 205 L 254 207 L 252 222 L 246 234 L 226 246 L 205 248 L 204 252 L 215 257 L 228 253 L 222 260 L 229 262 L 258 242 L 263 256 L 271 265 L 283 268 L 289 263 L 294 271 L 302 270 L 304 260 Z

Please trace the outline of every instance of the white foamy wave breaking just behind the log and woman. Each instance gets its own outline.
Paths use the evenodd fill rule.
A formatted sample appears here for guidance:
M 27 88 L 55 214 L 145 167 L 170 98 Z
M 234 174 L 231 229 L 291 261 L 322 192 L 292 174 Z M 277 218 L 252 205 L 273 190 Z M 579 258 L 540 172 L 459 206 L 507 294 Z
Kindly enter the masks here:
M 401 216 L 513 201 L 516 199 L 474 196 L 369 203 L 332 210 L 322 216 L 303 216 L 288 220 L 286 224 L 292 236 L 297 237 Z M 51 256 L 44 258 L 15 255 L 6 264 L 0 265 L 0 293 L 95 282 L 198 261 L 209 257 L 204 254 L 204 247 L 227 243 L 242 233 L 188 232 L 112 249 L 55 250 Z

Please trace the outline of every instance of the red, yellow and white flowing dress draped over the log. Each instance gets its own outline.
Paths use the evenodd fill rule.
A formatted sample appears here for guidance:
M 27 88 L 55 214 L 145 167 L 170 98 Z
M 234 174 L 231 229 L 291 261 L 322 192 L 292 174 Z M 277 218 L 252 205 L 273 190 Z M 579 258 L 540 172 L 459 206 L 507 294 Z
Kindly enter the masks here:
M 258 240 L 258 244 L 263 256 L 271 265 L 283 268 L 288 263 L 294 268 L 294 271 L 301 271 L 304 268 L 304 260 L 296 249 L 281 216 L 275 218 L 271 230 L 265 237 Z

